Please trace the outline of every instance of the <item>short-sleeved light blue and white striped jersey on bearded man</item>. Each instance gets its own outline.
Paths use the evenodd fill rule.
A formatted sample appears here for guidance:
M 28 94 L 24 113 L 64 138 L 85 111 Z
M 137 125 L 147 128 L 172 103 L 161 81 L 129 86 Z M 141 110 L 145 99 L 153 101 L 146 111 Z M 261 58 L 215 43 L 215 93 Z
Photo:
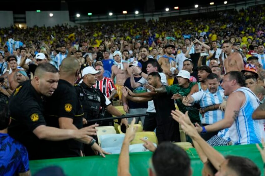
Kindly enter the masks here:
M 216 93 L 210 93 L 209 89 L 206 91 L 200 90 L 192 95 L 194 103 L 199 102 L 202 108 L 220 104 L 223 102 L 224 90 L 219 86 Z M 202 124 L 213 124 L 224 118 L 224 113 L 221 110 L 208 111 L 204 113 Z

